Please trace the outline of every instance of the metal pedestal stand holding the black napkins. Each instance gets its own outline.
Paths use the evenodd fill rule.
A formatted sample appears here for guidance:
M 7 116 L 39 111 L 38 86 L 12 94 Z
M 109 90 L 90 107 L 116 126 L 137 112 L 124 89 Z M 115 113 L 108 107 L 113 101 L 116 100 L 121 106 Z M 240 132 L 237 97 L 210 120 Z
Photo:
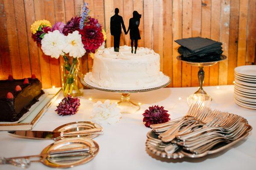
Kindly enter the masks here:
M 199 71 L 198 71 L 198 81 L 199 81 L 199 89 L 194 93 L 194 94 L 204 94 L 207 95 L 207 92 L 204 91 L 203 89 L 203 84 L 204 84 L 204 67 L 205 66 L 213 66 L 216 63 L 220 62 L 220 61 L 224 61 L 227 59 L 227 56 L 225 55 L 221 55 L 220 60 L 218 61 L 210 61 L 210 62 L 192 62 L 192 61 L 185 61 L 182 60 L 181 56 L 177 56 L 177 60 L 179 61 L 183 61 L 185 63 L 190 64 L 191 66 L 198 66 L 199 67 Z

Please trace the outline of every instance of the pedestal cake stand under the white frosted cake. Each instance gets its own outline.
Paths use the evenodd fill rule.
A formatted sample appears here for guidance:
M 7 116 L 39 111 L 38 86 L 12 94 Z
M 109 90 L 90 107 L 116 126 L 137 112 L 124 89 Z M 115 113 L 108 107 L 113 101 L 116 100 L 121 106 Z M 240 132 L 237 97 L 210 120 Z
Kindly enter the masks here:
M 124 90 L 124 89 L 106 89 L 103 87 L 99 87 L 96 85 L 92 85 L 92 84 L 88 84 L 87 82 L 84 81 L 84 77 L 86 80 L 88 80 L 86 78 L 86 75 L 84 75 L 80 80 L 81 83 L 84 84 L 84 86 L 87 86 L 91 89 L 97 89 L 97 90 L 102 90 L 102 91 L 106 91 L 106 92 L 115 92 L 115 93 L 120 93 L 121 95 L 121 99 L 120 101 L 117 102 L 118 107 L 121 109 L 121 113 L 122 114 L 128 114 L 128 113 L 134 113 L 136 111 L 138 111 L 140 109 L 140 105 L 130 101 L 130 96 L 131 93 L 135 93 L 135 92 L 148 92 L 148 91 L 152 91 L 152 90 L 156 90 L 156 89 L 161 89 L 165 86 L 168 86 L 171 83 L 171 79 L 168 75 L 165 75 L 169 78 L 168 82 L 165 82 L 163 84 L 161 84 L 160 86 L 155 86 L 153 88 L 148 88 L 148 89 L 138 89 L 138 90 Z M 89 80 L 88 80 L 89 81 Z

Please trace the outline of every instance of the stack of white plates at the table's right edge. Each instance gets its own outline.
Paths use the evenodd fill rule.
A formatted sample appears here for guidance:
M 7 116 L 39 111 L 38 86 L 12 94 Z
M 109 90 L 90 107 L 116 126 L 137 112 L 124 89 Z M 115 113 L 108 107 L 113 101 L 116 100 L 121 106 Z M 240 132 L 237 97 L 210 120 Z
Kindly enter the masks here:
M 236 104 L 256 109 L 256 65 L 236 67 L 234 87 Z

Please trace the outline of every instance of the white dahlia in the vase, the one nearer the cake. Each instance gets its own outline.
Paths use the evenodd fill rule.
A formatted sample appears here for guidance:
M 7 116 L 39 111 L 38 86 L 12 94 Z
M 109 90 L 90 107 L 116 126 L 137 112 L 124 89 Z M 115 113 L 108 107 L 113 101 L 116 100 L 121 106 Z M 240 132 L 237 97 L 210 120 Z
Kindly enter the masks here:
M 74 31 L 72 34 L 68 33 L 66 36 L 66 44 L 67 46 L 64 48 L 63 52 L 69 53 L 69 56 L 73 58 L 80 58 L 86 52 L 81 35 L 78 31 Z

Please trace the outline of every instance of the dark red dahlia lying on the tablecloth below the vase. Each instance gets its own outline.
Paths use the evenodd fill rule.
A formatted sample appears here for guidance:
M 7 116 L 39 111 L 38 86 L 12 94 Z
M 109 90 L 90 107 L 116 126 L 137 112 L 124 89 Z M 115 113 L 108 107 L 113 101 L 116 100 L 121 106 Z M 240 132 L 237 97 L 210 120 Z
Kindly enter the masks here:
M 58 112 L 58 115 L 74 115 L 80 106 L 80 100 L 78 98 L 73 98 L 68 95 L 66 98 L 62 99 L 61 103 L 57 106 L 55 112 Z

